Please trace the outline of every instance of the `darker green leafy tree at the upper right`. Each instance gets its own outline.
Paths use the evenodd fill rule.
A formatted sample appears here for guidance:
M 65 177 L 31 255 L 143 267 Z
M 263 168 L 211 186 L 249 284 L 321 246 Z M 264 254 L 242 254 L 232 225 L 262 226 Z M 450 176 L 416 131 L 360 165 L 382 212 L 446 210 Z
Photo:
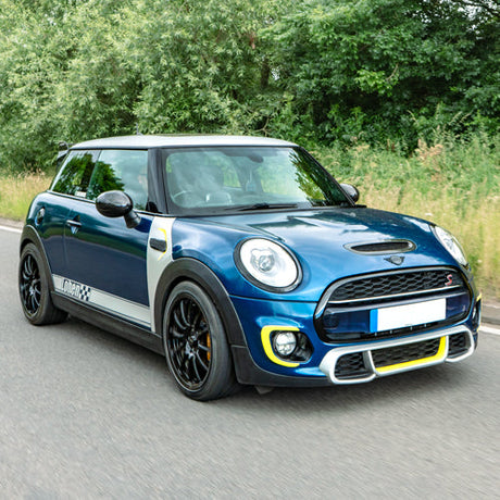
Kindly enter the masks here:
M 443 125 L 461 134 L 473 116 L 495 132 L 499 11 L 466 3 L 307 0 L 266 32 L 283 118 L 315 140 L 409 148 Z

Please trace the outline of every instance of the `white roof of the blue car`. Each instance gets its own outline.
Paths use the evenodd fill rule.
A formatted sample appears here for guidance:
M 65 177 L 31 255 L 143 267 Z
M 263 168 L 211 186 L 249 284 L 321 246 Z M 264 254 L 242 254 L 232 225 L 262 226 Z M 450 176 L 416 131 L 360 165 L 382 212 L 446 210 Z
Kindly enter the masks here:
M 122 136 L 87 140 L 73 145 L 71 149 L 146 149 L 192 146 L 296 146 L 280 139 L 251 136 L 199 136 L 199 135 L 151 135 Z

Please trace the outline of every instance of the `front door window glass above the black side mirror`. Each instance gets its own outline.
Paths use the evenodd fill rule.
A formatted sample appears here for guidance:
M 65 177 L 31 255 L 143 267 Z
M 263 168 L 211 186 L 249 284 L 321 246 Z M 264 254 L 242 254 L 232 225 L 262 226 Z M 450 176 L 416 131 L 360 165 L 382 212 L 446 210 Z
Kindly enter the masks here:
M 101 192 L 125 191 L 137 210 L 148 203 L 148 151 L 102 150 L 90 178 L 87 199 L 95 200 Z

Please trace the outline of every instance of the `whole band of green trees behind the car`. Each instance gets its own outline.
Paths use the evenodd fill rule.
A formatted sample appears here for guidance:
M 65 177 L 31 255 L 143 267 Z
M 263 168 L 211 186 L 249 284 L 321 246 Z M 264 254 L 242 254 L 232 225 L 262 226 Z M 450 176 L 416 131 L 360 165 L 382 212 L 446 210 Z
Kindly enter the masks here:
M 489 0 L 0 0 L 0 168 L 142 133 L 387 143 L 493 134 Z

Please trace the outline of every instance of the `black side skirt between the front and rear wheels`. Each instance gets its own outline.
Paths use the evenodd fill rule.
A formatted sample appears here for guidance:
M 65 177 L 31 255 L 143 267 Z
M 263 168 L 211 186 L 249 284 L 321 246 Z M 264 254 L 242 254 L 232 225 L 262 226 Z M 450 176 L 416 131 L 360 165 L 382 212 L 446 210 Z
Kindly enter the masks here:
M 83 305 L 72 299 L 68 299 L 67 297 L 63 297 L 57 291 L 52 291 L 51 297 L 52 302 L 57 308 L 66 311 L 71 315 L 134 343 L 138 343 L 139 346 L 142 346 L 159 354 L 165 355 L 162 338 L 155 334 L 152 334 L 150 330 L 141 328 L 137 325 L 133 325 L 127 321 L 124 321 L 112 314 L 108 314 L 92 307 Z

